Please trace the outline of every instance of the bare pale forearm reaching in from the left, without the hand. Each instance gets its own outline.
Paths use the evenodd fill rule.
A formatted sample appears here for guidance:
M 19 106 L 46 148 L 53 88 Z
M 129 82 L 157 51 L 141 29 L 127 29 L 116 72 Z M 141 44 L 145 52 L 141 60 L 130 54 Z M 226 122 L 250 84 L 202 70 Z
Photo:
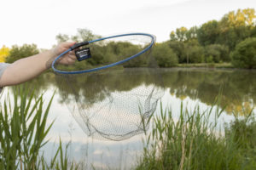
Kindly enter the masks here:
M 52 50 L 36 54 L 31 57 L 19 59 L 3 72 L 0 87 L 26 82 L 47 70 L 55 58 Z

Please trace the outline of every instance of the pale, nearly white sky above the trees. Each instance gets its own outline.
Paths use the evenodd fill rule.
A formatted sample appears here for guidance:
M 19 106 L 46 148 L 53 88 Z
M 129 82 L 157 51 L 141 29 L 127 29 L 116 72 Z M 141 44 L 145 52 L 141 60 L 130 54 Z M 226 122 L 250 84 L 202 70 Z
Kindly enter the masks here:
M 35 43 L 51 48 L 59 33 L 86 28 L 103 37 L 129 32 L 154 34 L 220 20 L 238 8 L 256 9 L 256 0 L 0 0 L 0 48 Z

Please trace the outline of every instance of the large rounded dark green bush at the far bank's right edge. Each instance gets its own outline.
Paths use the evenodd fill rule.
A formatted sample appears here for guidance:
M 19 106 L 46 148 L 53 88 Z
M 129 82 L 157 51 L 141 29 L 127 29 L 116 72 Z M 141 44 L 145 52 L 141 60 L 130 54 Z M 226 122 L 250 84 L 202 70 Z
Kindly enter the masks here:
M 231 54 L 232 64 L 239 68 L 256 68 L 256 37 L 247 38 L 237 44 Z

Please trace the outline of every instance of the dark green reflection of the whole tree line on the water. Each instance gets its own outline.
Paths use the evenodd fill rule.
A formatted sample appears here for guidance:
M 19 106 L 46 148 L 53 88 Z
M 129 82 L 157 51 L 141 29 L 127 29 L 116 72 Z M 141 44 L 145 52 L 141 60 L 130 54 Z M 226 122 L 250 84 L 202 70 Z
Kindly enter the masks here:
M 72 96 L 80 95 L 84 96 L 84 102 L 90 105 L 109 98 L 109 93 L 129 92 L 143 84 L 170 88 L 170 94 L 175 94 L 178 98 L 188 96 L 190 99 L 200 99 L 201 102 L 212 105 L 223 88 L 220 105 L 225 106 L 228 113 L 243 115 L 255 105 L 254 77 L 256 71 L 160 69 L 160 72 L 156 73 L 154 70 L 143 68 L 110 69 L 97 74 L 90 73 L 86 77 L 71 76 L 66 79 L 47 73 L 32 80 L 29 87 L 38 87 L 35 93 L 39 94 L 42 89 L 46 90 L 50 84 L 54 84 L 59 89 L 61 103 L 73 102 Z M 72 83 L 72 86 L 64 83 L 64 80 Z

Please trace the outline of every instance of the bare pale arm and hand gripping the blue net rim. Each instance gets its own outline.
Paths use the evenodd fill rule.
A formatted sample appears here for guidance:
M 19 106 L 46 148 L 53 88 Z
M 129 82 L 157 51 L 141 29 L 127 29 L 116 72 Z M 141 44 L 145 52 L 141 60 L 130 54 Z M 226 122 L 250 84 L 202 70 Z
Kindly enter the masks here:
M 57 56 L 73 46 L 74 43 L 62 42 L 48 51 L 15 61 L 3 72 L 0 79 L 0 87 L 20 84 L 34 77 L 38 77 L 38 75 L 50 68 L 51 63 Z M 57 62 L 63 65 L 72 65 L 75 60 L 76 56 L 71 51 L 61 57 Z

